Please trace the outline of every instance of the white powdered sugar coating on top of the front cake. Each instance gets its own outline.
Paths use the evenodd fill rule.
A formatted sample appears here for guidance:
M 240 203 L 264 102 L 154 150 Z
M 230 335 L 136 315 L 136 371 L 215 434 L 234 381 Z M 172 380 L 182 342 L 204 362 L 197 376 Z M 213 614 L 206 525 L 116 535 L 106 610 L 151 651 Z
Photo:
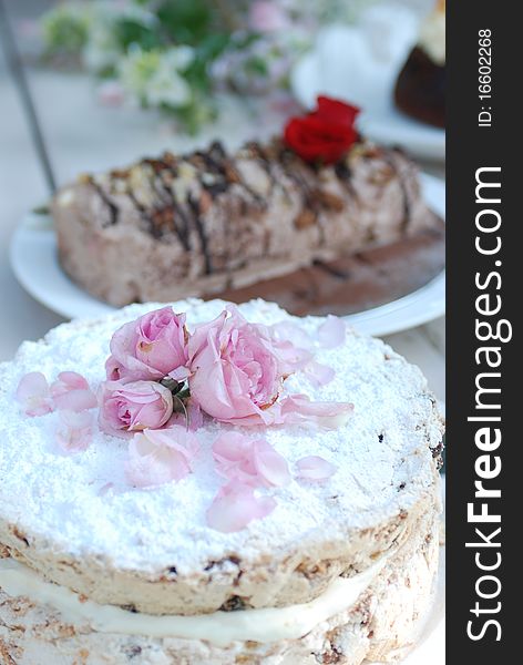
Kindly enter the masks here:
M 105 378 L 115 328 L 157 307 L 131 306 L 99 323 L 60 326 L 44 341 L 22 345 L 16 361 L 1 366 L 1 519 L 71 554 L 99 554 L 115 566 L 143 571 L 174 562 L 183 573 L 232 551 L 249 559 L 260 549 L 285 549 L 327 528 L 336 535 L 340 529 L 371 526 L 411 504 L 420 487 L 431 483 L 428 447 L 438 444 L 441 431 L 424 379 L 387 346 L 351 331 L 337 348 L 311 341 L 316 361 L 335 371 L 330 381 L 318 386 L 307 374 L 296 372 L 286 380 L 283 395 L 352 402 L 347 423 L 334 430 L 304 423 L 263 432 L 290 469 L 302 458 L 319 456 L 337 472 L 326 482 L 293 477 L 288 484 L 271 488 L 276 508 L 265 507 L 267 516 L 238 533 L 219 533 L 205 522 L 223 485 L 211 448 L 224 431 L 256 438 L 252 430 L 206 423 L 198 430 L 204 454 L 192 460 L 193 473 L 154 490 L 130 487 L 124 472 L 129 441 L 98 429 L 86 451 L 64 457 L 55 443 L 58 413 L 31 419 L 16 402 L 20 378 L 35 367 L 50 381 L 60 371 L 80 371 L 96 389 Z M 175 311 L 187 313 L 189 328 L 212 320 L 223 308 L 219 300 L 174 305 Z M 262 300 L 240 306 L 240 313 L 252 323 L 294 323 L 311 340 L 325 323 L 294 319 Z

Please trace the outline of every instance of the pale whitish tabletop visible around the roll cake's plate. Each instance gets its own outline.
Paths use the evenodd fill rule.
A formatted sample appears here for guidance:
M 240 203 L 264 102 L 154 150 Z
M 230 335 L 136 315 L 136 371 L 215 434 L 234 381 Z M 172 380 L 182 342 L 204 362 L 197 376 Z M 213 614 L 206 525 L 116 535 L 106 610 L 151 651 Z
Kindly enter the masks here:
M 216 137 L 229 145 L 264 139 L 285 119 L 285 111 L 262 100 L 224 99 L 218 121 L 192 139 L 173 131 L 173 125 L 154 112 L 104 106 L 88 76 L 35 66 L 27 68 L 27 73 L 59 183 L 82 171 L 130 163 L 144 153 L 154 155 L 165 149 L 180 152 Z M 17 223 L 28 209 L 44 202 L 49 192 L 1 52 L 0 100 L 0 360 L 6 360 L 22 340 L 38 339 L 64 319 L 33 300 L 9 266 L 9 243 Z M 425 164 L 423 168 L 443 175 L 441 164 Z M 444 402 L 444 319 L 386 340 L 422 369 L 438 399 Z

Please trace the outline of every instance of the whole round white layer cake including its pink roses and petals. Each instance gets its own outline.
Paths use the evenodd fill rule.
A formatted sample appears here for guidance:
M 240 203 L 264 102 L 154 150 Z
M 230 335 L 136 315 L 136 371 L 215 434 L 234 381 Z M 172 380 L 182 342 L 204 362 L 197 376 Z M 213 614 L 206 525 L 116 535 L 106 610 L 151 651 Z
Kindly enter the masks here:
M 24 342 L 0 413 L 2 665 L 356 665 L 416 641 L 442 423 L 381 341 L 263 300 L 133 305 Z

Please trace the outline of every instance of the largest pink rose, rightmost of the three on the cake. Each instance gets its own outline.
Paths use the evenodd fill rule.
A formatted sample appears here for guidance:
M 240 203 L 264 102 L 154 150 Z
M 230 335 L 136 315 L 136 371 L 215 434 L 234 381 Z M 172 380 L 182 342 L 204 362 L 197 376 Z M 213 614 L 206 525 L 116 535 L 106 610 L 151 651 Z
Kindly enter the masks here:
M 189 389 L 201 408 L 225 422 L 257 416 L 278 398 L 283 372 L 264 328 L 235 307 L 197 326 L 188 340 Z

